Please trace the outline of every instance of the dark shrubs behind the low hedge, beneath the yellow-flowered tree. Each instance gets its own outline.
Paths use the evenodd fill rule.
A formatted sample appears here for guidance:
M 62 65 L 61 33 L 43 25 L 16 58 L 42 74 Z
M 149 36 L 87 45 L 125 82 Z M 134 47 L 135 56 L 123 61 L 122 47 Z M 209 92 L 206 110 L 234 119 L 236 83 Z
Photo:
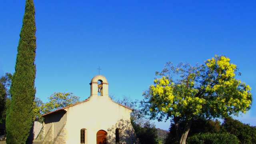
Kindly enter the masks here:
M 180 123 L 181 128 L 184 126 L 184 122 Z M 212 134 L 233 134 L 240 141 L 239 144 L 254 144 L 256 142 L 256 128 L 250 126 L 249 124 L 243 124 L 238 120 L 234 120 L 231 117 L 227 117 L 224 119 L 222 125 L 218 120 L 206 120 L 206 119 L 197 119 L 192 121 L 191 130 L 188 134 L 188 138 L 193 137 L 193 142 L 195 142 L 196 138 L 198 138 L 199 134 L 205 134 L 208 136 L 209 133 Z M 200 139 L 201 140 L 201 139 Z M 166 138 L 166 144 L 178 144 L 176 138 L 176 130 L 175 126 L 172 123 L 170 126 L 170 133 Z M 192 142 L 192 143 L 193 143 Z

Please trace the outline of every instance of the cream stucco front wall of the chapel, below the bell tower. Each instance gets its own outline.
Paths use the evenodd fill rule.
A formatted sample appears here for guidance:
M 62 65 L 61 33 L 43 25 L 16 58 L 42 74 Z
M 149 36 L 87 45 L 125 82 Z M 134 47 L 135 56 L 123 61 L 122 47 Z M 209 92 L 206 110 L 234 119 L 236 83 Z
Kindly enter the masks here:
M 96 144 L 96 133 L 105 130 L 108 144 L 115 144 L 115 130 L 120 129 L 120 141 L 128 144 L 134 139 L 130 112 L 108 96 L 91 96 L 87 102 L 65 109 L 67 111 L 66 144 L 80 144 L 80 129 L 86 128 L 87 144 Z

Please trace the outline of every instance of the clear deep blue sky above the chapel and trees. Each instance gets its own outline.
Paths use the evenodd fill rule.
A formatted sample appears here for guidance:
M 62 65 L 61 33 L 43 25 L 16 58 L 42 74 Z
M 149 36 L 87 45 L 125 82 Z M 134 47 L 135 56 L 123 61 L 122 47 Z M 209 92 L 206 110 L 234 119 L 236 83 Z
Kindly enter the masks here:
M 204 63 L 215 54 L 236 64 L 252 87 L 252 109 L 236 119 L 256 126 L 256 1 L 35 0 L 36 97 L 90 95 L 101 74 L 116 98 L 141 100 L 154 72 L 172 61 Z M 0 75 L 14 72 L 25 0 L 0 2 Z M 156 122 L 168 129 L 170 122 Z

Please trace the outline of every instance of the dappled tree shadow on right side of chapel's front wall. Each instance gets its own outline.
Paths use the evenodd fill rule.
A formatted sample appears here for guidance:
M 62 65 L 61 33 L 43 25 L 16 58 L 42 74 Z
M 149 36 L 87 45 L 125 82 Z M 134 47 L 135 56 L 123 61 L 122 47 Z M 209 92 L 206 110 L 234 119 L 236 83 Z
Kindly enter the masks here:
M 116 130 L 116 128 L 118 128 L 118 130 Z M 116 134 L 116 131 L 119 131 L 119 134 Z M 118 135 L 118 144 L 140 144 L 138 138 L 136 138 L 136 134 L 130 120 L 121 119 L 111 128 L 108 128 L 108 144 L 116 144 L 118 142 L 118 138 L 116 138 L 116 136 Z

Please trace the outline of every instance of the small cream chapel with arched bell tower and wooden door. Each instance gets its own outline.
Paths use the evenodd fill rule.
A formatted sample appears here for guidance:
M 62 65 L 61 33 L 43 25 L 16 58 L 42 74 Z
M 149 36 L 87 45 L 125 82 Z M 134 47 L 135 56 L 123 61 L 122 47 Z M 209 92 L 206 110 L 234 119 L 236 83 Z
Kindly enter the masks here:
M 34 143 L 138 144 L 131 112 L 111 100 L 107 79 L 97 75 L 90 82 L 86 100 L 43 115 L 44 123 Z

